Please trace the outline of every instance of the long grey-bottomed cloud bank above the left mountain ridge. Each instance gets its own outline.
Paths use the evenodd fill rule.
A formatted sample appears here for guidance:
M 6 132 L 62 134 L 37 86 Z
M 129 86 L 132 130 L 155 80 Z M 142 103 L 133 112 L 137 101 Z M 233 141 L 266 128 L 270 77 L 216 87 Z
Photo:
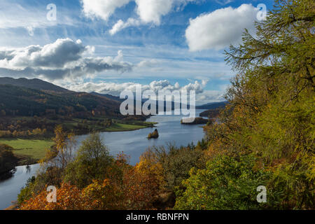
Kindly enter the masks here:
M 132 64 L 123 62 L 123 52 L 118 56 L 91 57 L 94 48 L 82 41 L 69 38 L 57 39 L 44 46 L 29 45 L 25 48 L 0 48 L 0 73 L 2 76 L 28 76 L 56 80 L 92 76 L 107 70 L 127 71 Z

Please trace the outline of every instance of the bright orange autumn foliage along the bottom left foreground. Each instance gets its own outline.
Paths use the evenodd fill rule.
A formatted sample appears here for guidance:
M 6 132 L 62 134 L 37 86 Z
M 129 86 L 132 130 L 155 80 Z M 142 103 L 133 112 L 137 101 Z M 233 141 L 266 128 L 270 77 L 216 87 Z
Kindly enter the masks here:
M 127 165 L 127 157 L 118 155 L 109 169 L 109 179 L 93 180 L 80 190 L 62 183 L 57 188 L 57 202 L 48 203 L 48 192 L 41 191 L 21 205 L 21 210 L 96 210 L 153 209 L 162 183 L 162 166 L 151 151 L 141 156 L 135 167 Z

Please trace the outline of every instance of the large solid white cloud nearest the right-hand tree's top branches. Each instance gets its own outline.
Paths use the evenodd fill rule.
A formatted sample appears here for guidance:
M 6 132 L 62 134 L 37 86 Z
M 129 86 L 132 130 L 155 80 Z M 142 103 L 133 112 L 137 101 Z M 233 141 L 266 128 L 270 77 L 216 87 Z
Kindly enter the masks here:
M 222 49 L 241 41 L 244 29 L 254 31 L 258 10 L 251 4 L 239 8 L 221 8 L 212 13 L 190 19 L 186 29 L 186 40 L 191 51 Z

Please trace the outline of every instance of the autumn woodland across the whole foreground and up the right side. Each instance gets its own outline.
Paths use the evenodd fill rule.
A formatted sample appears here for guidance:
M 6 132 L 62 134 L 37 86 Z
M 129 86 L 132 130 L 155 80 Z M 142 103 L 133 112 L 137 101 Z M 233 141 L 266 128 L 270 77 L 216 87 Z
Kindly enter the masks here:
M 314 15 L 312 0 L 276 1 L 255 36 L 245 31 L 230 47 L 237 76 L 228 105 L 197 146 L 150 148 L 131 166 L 92 134 L 72 159 L 74 143 L 57 127 L 45 172 L 21 191 L 20 208 L 314 209 Z M 46 201 L 50 185 L 57 203 Z M 256 200 L 258 186 L 266 203 Z

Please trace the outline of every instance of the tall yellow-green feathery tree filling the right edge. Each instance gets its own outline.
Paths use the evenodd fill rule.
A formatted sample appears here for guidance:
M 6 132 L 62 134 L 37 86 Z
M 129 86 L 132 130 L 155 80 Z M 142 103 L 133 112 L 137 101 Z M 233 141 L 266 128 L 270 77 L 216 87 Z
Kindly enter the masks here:
M 246 31 L 226 52 L 239 72 L 227 93 L 229 148 L 274 169 L 283 208 L 314 207 L 314 19 L 314 1 L 276 1 L 255 37 Z

